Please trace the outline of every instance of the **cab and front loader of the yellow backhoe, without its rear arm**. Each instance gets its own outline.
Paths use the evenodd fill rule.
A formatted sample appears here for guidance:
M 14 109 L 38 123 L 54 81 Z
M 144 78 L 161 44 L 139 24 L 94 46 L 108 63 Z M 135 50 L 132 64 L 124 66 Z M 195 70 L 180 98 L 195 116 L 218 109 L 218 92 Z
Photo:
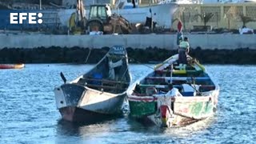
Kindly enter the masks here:
M 112 14 L 110 4 L 91 5 L 86 30 L 102 31 L 103 34 L 130 34 L 130 23 L 118 14 Z

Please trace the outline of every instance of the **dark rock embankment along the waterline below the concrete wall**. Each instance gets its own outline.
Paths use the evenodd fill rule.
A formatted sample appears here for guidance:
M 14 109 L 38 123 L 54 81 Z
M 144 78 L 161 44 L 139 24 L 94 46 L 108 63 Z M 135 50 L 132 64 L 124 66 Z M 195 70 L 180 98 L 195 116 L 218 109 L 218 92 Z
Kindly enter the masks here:
M 0 63 L 97 63 L 109 50 L 89 49 L 81 47 L 62 48 L 51 46 L 50 48 L 4 48 L 0 50 Z M 177 50 L 159 48 L 132 49 L 127 48 L 131 63 L 162 62 Z M 204 64 L 256 64 L 256 50 L 238 48 L 234 50 L 202 50 L 200 47 L 192 48 L 190 55 Z

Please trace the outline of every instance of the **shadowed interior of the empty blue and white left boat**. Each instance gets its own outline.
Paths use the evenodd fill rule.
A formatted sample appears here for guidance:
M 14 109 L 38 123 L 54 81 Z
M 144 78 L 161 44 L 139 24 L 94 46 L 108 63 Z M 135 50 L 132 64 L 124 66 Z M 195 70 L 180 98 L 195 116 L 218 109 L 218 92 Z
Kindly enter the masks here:
M 97 66 L 84 74 L 78 84 L 94 90 L 120 94 L 130 85 L 126 55 L 106 54 Z

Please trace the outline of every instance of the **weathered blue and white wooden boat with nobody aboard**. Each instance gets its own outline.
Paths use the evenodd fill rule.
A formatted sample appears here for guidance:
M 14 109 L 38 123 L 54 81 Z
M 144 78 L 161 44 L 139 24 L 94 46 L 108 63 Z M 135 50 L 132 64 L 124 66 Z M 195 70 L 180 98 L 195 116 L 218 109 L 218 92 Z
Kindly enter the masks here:
M 66 82 L 66 78 L 62 79 Z M 122 114 L 130 86 L 126 49 L 114 46 L 92 70 L 54 89 L 62 118 L 70 122 L 94 122 Z

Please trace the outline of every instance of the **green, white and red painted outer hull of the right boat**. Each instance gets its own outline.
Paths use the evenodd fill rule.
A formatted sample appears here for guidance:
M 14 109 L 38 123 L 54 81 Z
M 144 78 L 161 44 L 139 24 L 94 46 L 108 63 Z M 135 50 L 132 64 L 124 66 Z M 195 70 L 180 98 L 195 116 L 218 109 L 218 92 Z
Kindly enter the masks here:
M 130 115 L 134 118 L 145 119 L 157 126 L 185 126 L 192 122 L 208 118 L 214 114 L 218 90 L 212 96 L 206 97 L 136 97 L 128 98 Z

